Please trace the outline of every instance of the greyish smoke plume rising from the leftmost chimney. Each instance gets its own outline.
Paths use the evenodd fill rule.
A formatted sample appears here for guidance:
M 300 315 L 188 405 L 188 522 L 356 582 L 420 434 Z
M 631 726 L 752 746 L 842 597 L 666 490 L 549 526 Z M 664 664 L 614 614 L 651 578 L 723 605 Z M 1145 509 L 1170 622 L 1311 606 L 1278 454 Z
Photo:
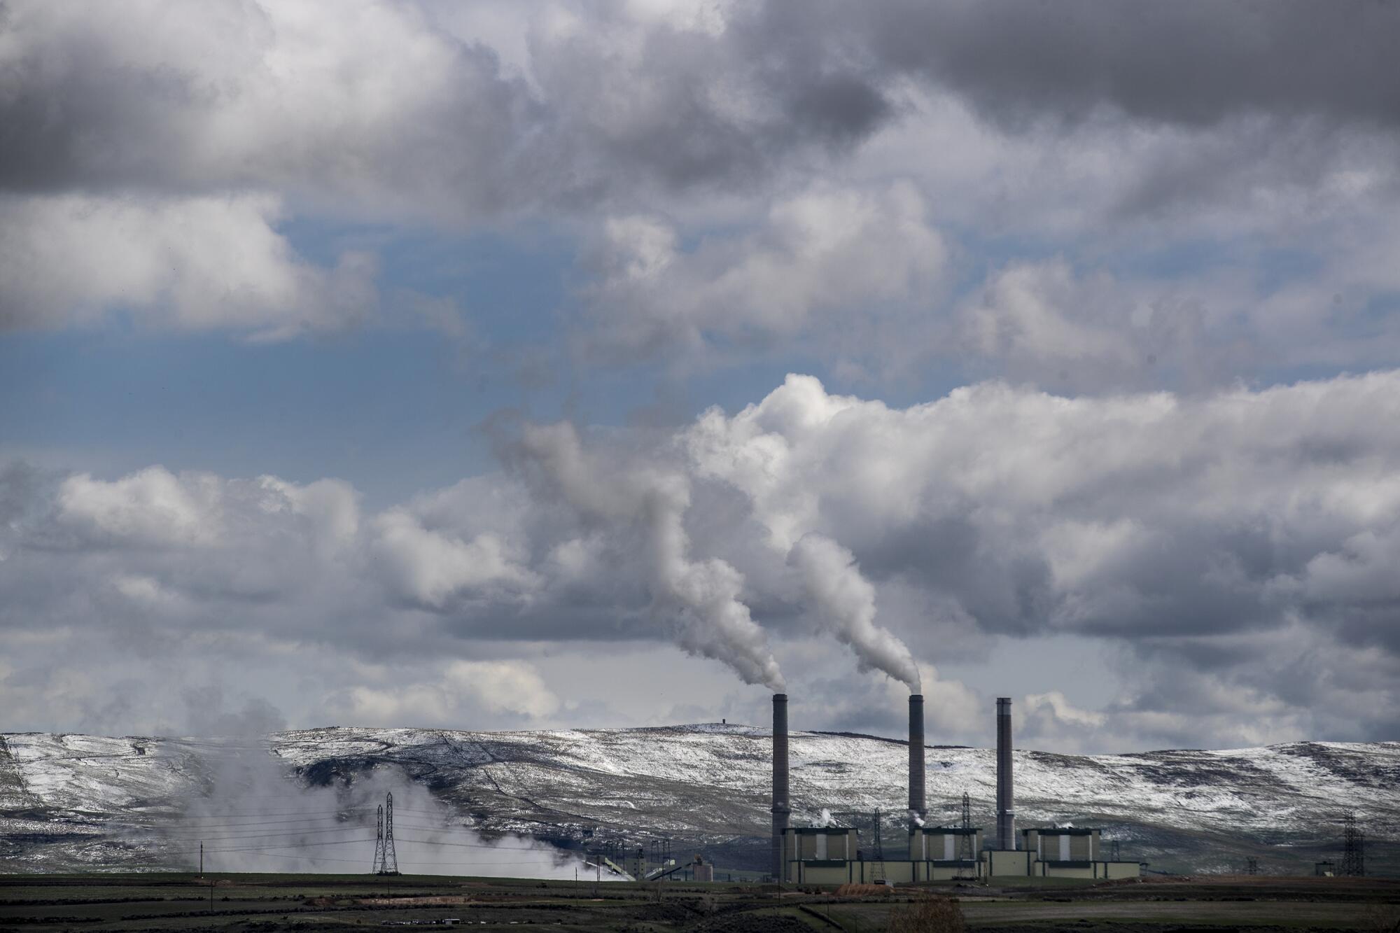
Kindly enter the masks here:
M 741 600 L 743 574 L 718 558 L 690 559 L 690 481 L 683 472 L 609 469 L 567 423 L 528 426 L 519 448 L 584 520 L 641 528 L 654 608 L 671 621 L 682 649 L 728 664 L 745 684 L 787 689 L 767 636 Z

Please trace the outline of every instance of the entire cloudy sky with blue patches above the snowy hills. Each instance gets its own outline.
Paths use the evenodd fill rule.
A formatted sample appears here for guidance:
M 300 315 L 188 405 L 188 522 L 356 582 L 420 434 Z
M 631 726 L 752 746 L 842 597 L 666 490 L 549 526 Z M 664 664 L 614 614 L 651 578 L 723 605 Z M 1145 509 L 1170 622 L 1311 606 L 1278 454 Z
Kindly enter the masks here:
M 1397 36 L 0 0 L 0 730 L 1400 738 Z

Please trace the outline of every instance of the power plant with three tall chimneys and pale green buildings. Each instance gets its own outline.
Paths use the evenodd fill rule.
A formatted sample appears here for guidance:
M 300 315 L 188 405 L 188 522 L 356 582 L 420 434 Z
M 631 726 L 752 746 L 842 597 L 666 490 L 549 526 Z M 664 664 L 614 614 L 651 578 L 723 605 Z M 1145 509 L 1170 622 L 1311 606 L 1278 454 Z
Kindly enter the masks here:
M 927 827 L 924 698 L 909 698 L 909 848 L 885 857 L 861 849 L 851 827 L 791 827 L 787 695 L 773 696 L 773 877 L 791 884 L 909 884 L 953 878 L 1128 878 L 1137 862 L 1106 860 L 1099 829 L 1046 827 L 1016 838 L 1011 772 L 1011 698 L 997 699 L 997 836 L 983 848 L 965 800 L 963 825 Z M 1019 843 L 1019 845 L 1018 845 Z

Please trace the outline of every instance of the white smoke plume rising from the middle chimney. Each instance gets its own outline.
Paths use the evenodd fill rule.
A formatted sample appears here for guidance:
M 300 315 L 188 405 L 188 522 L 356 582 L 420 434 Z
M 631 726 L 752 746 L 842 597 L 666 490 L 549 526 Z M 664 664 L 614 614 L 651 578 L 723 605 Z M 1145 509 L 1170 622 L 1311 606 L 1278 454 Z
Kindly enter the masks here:
M 861 574 L 848 549 L 811 532 L 792 545 L 788 562 L 802 574 L 804 590 L 823 625 L 855 651 L 860 670 L 883 671 L 907 684 L 910 692 L 923 692 L 909 646 L 875 625 L 875 587 Z

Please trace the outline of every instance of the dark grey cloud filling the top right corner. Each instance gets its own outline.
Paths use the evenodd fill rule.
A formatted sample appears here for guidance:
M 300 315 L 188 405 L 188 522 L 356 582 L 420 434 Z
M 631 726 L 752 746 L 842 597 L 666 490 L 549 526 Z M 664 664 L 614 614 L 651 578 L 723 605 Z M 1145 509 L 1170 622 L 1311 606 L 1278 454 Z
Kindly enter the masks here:
M 883 67 L 927 74 L 997 120 L 1075 120 L 1107 106 L 1196 126 L 1240 113 L 1400 123 L 1394 3 L 945 0 L 876 4 L 860 15 L 844 4 L 830 8 L 840 15 L 843 7 L 844 24 L 865 32 Z

